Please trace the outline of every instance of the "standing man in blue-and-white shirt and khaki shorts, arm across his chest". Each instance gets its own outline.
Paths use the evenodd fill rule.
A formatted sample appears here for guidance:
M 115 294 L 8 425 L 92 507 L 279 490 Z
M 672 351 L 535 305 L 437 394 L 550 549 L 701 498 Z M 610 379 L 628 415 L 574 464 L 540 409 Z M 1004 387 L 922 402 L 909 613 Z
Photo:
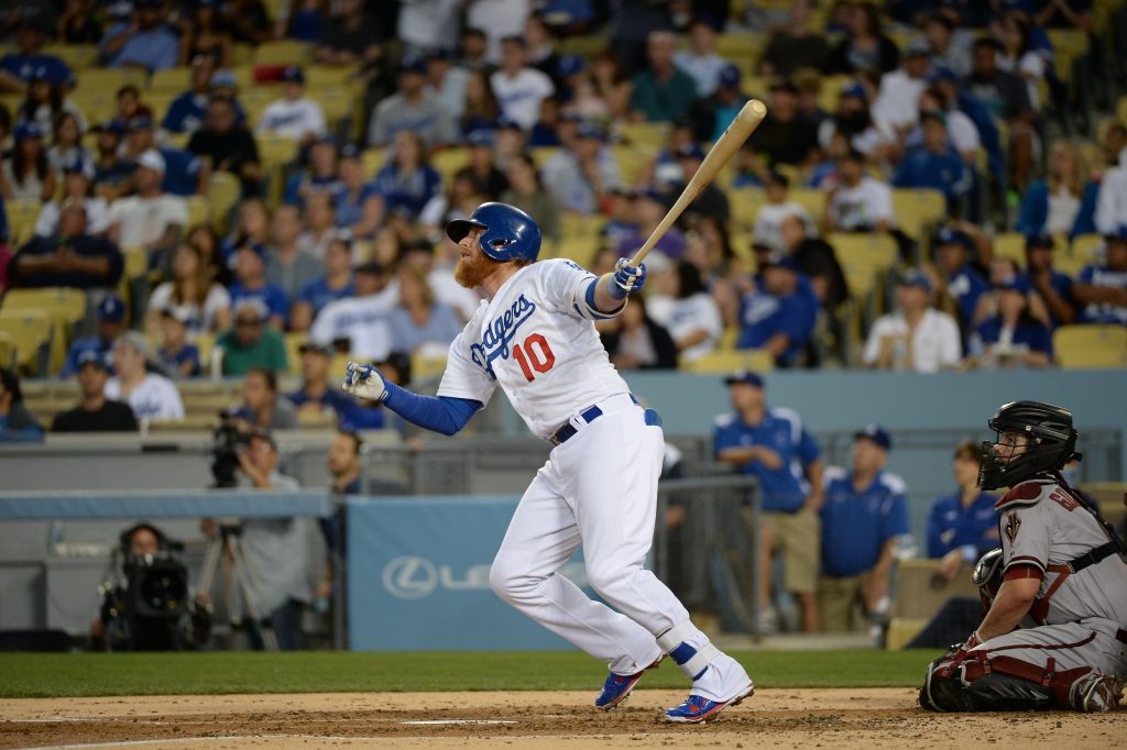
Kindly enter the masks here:
M 728 377 L 734 412 L 713 427 L 716 458 L 760 481 L 763 528 L 760 539 L 760 611 L 770 628 L 771 569 L 783 552 L 783 586 L 798 599 L 802 630 L 818 630 L 818 511 L 822 509 L 822 455 L 801 418 L 790 409 L 767 409 L 763 378 L 740 372 Z

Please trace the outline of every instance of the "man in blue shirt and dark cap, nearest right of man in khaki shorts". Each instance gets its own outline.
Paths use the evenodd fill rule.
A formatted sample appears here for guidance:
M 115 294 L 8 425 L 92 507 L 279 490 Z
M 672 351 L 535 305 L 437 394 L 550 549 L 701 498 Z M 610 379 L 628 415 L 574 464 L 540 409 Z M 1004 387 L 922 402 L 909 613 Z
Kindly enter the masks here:
M 826 468 L 822 506 L 822 630 L 857 631 L 862 615 L 888 605 L 897 539 L 911 532 L 904 480 L 885 472 L 888 432 L 869 425 L 854 435 L 852 471 Z

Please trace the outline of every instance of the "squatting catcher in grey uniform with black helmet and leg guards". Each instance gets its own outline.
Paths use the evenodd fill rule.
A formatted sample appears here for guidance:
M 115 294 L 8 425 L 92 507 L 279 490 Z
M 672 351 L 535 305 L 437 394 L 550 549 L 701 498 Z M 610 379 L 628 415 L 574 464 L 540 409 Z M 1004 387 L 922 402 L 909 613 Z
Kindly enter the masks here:
M 1127 676 L 1127 562 L 1122 541 L 1061 470 L 1075 453 L 1072 413 L 1008 403 L 990 420 L 978 483 L 997 501 L 1000 551 L 974 582 L 982 625 L 928 668 L 920 705 L 933 711 L 1104 712 Z

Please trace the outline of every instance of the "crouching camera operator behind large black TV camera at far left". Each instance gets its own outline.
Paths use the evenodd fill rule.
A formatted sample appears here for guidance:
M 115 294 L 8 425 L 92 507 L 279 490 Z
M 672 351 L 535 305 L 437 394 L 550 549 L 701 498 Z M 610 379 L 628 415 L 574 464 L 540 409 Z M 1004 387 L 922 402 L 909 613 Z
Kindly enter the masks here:
M 121 535 L 114 580 L 99 590 L 98 617 L 90 624 L 94 651 L 184 651 L 211 636 L 211 599 L 192 596 L 179 543 L 140 523 Z M 122 557 L 118 575 L 117 557 Z

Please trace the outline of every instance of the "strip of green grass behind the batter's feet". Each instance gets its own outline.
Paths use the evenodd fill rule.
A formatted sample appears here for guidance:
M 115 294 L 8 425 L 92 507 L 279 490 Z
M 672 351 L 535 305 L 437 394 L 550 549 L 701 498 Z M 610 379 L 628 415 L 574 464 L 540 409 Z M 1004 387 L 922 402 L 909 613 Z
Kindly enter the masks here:
M 929 651 L 734 652 L 757 686 L 914 687 Z M 577 652 L 0 654 L 0 697 L 432 690 L 591 690 L 606 677 Z M 666 660 L 642 687 L 678 688 Z

